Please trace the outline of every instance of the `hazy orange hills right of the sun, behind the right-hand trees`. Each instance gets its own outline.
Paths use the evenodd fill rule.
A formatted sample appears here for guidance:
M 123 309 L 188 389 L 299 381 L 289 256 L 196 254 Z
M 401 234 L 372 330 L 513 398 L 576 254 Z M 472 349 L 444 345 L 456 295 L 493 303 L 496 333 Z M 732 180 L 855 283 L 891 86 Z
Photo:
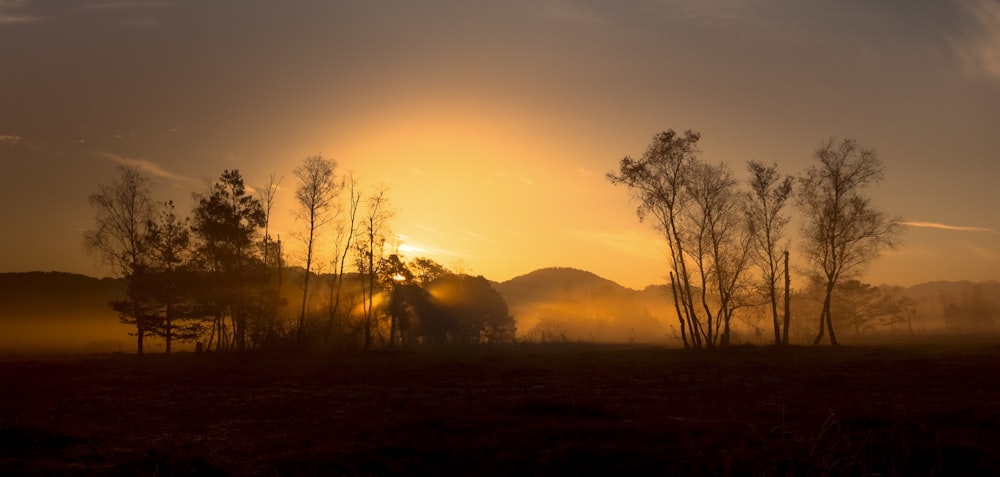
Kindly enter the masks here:
M 517 319 L 518 335 L 524 339 L 679 343 L 677 314 L 668 286 L 633 290 L 584 270 L 544 268 L 495 287 L 507 300 Z M 906 329 L 912 327 L 917 335 L 1000 331 L 1000 282 L 996 280 L 880 288 L 891 296 L 912 300 L 914 309 L 907 313 Z M 793 334 L 815 333 L 818 311 L 811 308 L 814 306 L 808 299 L 793 298 Z M 739 318 L 733 323 L 734 333 L 741 339 L 767 342 L 768 325 L 763 315 Z

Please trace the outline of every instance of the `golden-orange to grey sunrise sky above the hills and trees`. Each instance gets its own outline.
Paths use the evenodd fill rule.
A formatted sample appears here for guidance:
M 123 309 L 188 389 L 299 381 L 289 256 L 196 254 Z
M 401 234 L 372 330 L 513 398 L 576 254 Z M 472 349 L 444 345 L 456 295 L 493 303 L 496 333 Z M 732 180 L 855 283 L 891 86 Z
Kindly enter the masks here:
M 995 0 L 0 0 L 0 271 L 108 275 L 87 197 L 123 164 L 182 211 L 225 169 L 283 176 L 294 244 L 322 154 L 388 189 L 405 254 L 642 288 L 665 243 L 605 174 L 667 129 L 741 178 L 854 138 L 907 223 L 864 280 L 1000 279 Z

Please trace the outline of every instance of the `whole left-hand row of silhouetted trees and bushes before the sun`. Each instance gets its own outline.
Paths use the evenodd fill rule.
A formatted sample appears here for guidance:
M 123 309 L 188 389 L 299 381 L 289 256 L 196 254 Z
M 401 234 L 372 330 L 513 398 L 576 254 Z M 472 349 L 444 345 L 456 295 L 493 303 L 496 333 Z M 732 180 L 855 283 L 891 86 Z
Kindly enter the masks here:
M 95 227 L 85 243 L 126 283 L 125 298 L 110 305 L 134 327 L 137 353 L 150 337 L 163 339 L 167 353 L 175 341 L 246 351 L 514 339 L 514 318 L 487 280 L 393 253 L 386 191 L 362 197 L 353 175 L 339 177 L 336 167 L 312 156 L 295 170 L 306 246 L 298 273 L 271 235 L 276 176 L 252 195 L 238 170 L 226 170 L 194 194 L 189 216 L 155 201 L 137 168 L 121 167 L 101 185 L 90 197 Z M 325 234 L 334 254 L 332 272 L 321 276 L 312 269 Z

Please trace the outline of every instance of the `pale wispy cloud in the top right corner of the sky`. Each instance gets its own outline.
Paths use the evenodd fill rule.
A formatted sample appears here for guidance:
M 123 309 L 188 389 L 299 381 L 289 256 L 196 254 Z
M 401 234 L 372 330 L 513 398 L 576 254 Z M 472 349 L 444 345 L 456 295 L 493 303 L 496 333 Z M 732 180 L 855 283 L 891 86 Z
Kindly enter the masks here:
M 971 25 L 951 38 L 951 48 L 966 70 L 1000 80 L 1000 2 L 966 0 L 961 3 Z

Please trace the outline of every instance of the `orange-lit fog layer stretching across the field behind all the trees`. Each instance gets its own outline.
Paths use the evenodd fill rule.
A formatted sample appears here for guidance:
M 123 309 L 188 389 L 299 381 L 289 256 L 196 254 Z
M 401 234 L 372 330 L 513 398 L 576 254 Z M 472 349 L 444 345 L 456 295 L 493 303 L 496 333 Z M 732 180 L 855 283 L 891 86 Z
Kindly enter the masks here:
M 325 303 L 317 280 L 311 313 Z M 570 268 L 536 270 L 494 288 L 528 342 L 651 343 L 680 346 L 669 288 L 622 287 Z M 300 293 L 288 287 L 290 296 Z M 0 353 L 134 352 L 134 327 L 122 325 L 108 302 L 121 298 L 121 282 L 65 273 L 0 274 Z M 816 332 L 821 303 L 808 290 L 792 299 L 792 342 L 807 344 Z M 289 322 L 294 310 L 289 307 Z M 1000 283 L 935 282 L 909 288 L 849 283 L 836 303 L 845 344 L 944 341 L 1000 331 Z M 740 310 L 736 343 L 768 344 L 766 306 Z M 163 343 L 152 340 L 150 351 Z M 192 350 L 194 343 L 175 343 Z

